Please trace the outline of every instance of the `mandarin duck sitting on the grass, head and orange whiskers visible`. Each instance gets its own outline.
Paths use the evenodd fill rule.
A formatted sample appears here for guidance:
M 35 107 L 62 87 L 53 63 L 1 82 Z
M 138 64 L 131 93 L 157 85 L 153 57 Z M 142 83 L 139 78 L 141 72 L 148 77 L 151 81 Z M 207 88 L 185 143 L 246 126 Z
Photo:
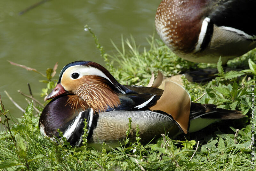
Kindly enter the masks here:
M 59 137 L 60 129 L 73 146 L 82 144 L 84 121 L 90 146 L 98 148 L 105 142 L 114 148 L 126 138 L 129 117 L 130 140 L 136 141 L 138 125 L 141 142 L 147 143 L 163 133 L 186 134 L 218 120 L 245 116 L 216 105 L 190 102 L 185 89 L 174 82 L 166 82 L 164 90 L 121 85 L 107 69 L 90 61 L 66 65 L 46 100 L 52 98 L 40 116 L 40 131 L 43 136 Z

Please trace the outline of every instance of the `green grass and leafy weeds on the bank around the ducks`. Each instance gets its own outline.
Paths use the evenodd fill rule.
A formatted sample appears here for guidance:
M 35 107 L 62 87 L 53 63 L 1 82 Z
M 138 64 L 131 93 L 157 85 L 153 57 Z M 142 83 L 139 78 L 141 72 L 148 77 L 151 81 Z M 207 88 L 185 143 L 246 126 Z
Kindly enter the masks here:
M 93 36 L 106 61 L 106 68 L 122 84 L 147 84 L 151 72 L 156 74 L 157 70 L 170 77 L 188 70 L 216 67 L 216 64 L 196 64 L 181 59 L 154 37 L 147 39 L 149 49 L 137 47 L 132 37 L 125 41 L 122 38 L 122 49 L 113 43 L 116 53 L 109 55 Z M 250 114 L 250 86 L 255 84 L 256 76 L 253 61 L 256 61 L 256 50 L 228 62 L 229 67 L 240 67 L 244 69 L 242 71 L 225 72 L 219 62 L 219 74 L 210 82 L 188 82 L 183 77 L 184 87 L 192 101 L 205 93 L 198 103 L 240 110 L 248 116 L 242 120 L 212 124 L 196 133 L 180 135 L 175 140 L 164 136 L 149 144 L 140 144 L 137 133 L 137 141 L 132 144 L 110 151 L 102 144 L 101 150 L 97 151 L 87 148 L 87 142 L 82 147 L 71 148 L 65 139 L 59 144 L 42 137 L 38 130 L 39 117 L 30 104 L 23 117 L 10 128 L 15 143 L 10 132 L 4 130 L 0 133 L 0 170 L 250 170 L 251 123 L 256 123 Z M 52 72 L 48 69 L 47 79 L 40 81 L 47 83 L 42 96 L 54 87 Z M 41 107 L 36 107 L 42 111 Z M 4 114 L 8 116 L 9 113 L 1 106 L 0 110 L 1 123 L 7 125 Z M 235 136 L 236 129 L 239 132 Z M 197 141 L 200 143 L 196 150 Z

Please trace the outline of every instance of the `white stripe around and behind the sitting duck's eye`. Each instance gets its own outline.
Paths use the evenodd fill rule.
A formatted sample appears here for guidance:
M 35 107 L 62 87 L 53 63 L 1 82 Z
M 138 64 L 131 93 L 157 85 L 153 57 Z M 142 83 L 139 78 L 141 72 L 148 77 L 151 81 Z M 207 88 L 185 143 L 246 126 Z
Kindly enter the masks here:
M 78 73 L 79 74 L 78 78 L 81 78 L 84 75 L 97 75 L 97 76 L 106 78 L 109 82 L 111 82 L 110 79 L 102 71 L 100 71 L 97 68 L 91 67 L 91 66 L 82 66 L 82 65 L 70 66 L 66 69 L 66 71 L 64 71 L 63 75 L 68 74 L 68 75 L 70 75 L 69 77 L 72 80 L 75 80 L 71 76 L 73 73 Z M 62 76 L 62 78 L 63 78 L 63 76 Z M 62 78 L 61 78 L 61 80 L 62 80 Z M 78 78 L 76 78 L 76 79 L 78 79 Z M 111 83 L 113 84 L 113 82 L 111 82 Z

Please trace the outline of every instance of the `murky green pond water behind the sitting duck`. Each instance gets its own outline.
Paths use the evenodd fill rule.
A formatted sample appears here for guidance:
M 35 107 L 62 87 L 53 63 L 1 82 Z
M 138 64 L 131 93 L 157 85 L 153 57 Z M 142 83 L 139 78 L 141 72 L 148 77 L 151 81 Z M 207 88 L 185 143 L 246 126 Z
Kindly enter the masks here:
M 42 73 L 59 62 L 56 79 L 69 62 L 91 60 L 104 65 L 92 35 L 84 31 L 84 26 L 92 28 L 109 54 L 115 53 L 110 39 L 121 48 L 121 35 L 124 39 L 132 35 L 138 45 L 147 47 L 146 37 L 155 31 L 155 13 L 161 2 L 50 0 L 19 15 L 20 11 L 39 1 L 0 1 L 0 93 L 12 117 L 20 117 L 22 113 L 12 105 L 4 90 L 25 108 L 25 97 L 17 90 L 29 94 L 27 83 L 30 83 L 34 97 L 43 102 L 40 92 L 46 85 L 38 82 L 44 79 L 41 75 L 12 66 L 7 60 Z

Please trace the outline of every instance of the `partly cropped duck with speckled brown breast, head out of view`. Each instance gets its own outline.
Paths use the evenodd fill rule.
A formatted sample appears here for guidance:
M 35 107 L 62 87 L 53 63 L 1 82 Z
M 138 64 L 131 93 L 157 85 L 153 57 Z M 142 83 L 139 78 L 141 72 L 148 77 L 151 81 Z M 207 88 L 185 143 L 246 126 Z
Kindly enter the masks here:
M 222 64 L 256 47 L 255 0 L 163 0 L 156 31 L 179 57 Z

